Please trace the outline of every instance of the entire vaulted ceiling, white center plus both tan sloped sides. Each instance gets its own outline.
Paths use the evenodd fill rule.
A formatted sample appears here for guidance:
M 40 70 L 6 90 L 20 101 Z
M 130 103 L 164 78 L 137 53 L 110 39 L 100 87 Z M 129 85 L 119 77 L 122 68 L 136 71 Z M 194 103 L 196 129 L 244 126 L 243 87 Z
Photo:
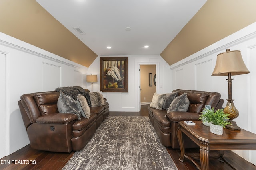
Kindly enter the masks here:
M 1 0 L 0 31 L 87 67 L 98 56 L 123 55 L 161 55 L 171 65 L 254 23 L 255 7 L 254 0 Z

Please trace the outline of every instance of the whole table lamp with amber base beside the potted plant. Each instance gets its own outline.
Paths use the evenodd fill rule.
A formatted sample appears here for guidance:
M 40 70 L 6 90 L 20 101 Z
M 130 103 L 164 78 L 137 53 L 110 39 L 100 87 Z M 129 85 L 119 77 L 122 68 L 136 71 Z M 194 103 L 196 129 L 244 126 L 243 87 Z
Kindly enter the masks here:
M 241 52 L 239 50 L 230 51 L 226 49 L 226 52 L 217 55 L 217 61 L 215 68 L 212 72 L 212 76 L 228 76 L 228 99 L 226 99 L 227 105 L 224 108 L 224 113 L 230 114 L 231 125 L 226 125 L 226 128 L 230 130 L 241 130 L 233 121 L 234 118 L 238 117 L 239 112 L 236 109 L 232 99 L 232 78 L 231 75 L 248 74 L 249 70 L 246 68 L 242 59 Z

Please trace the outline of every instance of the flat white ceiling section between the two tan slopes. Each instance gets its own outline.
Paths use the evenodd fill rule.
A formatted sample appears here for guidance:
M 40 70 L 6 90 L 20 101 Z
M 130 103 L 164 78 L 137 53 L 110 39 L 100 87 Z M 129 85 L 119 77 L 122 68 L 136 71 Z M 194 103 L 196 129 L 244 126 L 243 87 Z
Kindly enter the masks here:
M 97 55 L 160 54 L 206 0 L 36 0 Z M 84 34 L 73 28 L 79 27 Z M 144 48 L 145 45 L 149 47 Z M 112 47 L 108 49 L 107 47 Z

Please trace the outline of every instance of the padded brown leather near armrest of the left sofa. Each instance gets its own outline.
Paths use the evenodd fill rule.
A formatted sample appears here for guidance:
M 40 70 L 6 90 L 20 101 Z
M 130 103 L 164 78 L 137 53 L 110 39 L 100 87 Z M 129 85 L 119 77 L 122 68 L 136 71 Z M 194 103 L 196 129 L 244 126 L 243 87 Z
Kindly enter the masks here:
M 78 117 L 71 113 L 52 113 L 38 117 L 36 123 L 69 123 L 77 119 Z

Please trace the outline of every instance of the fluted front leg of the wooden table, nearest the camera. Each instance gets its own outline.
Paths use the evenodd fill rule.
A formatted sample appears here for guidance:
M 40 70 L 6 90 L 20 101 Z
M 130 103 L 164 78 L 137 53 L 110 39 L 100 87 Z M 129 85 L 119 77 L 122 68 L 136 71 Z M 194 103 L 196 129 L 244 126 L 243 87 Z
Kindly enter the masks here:
M 209 145 L 200 141 L 200 163 L 202 170 L 209 170 Z

